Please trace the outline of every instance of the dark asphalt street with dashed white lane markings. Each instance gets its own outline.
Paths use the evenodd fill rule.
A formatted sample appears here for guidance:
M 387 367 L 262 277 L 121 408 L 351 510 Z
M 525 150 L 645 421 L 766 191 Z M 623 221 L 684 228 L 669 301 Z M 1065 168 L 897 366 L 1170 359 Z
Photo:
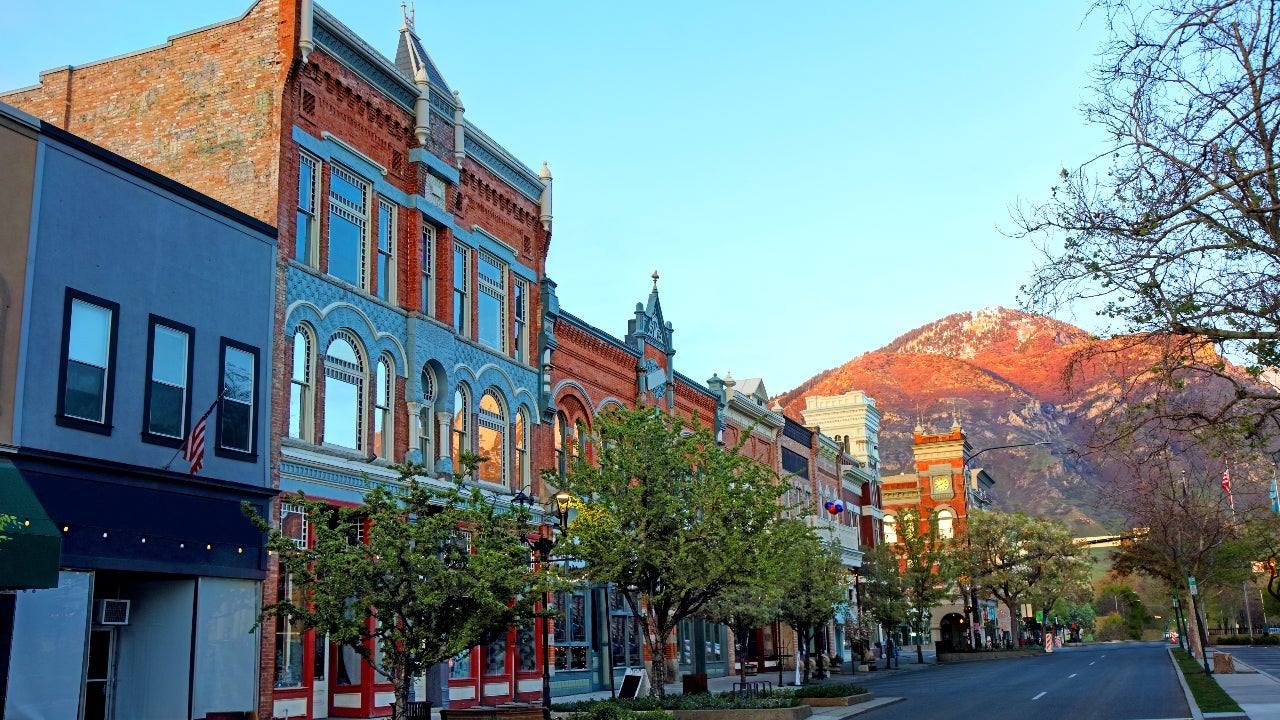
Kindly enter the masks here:
M 902 665 L 911 661 L 904 653 Z M 1068 647 L 1030 659 L 937 665 L 882 678 L 867 673 L 854 682 L 878 697 L 906 698 L 868 712 L 869 719 L 1190 717 L 1166 646 L 1158 642 Z

